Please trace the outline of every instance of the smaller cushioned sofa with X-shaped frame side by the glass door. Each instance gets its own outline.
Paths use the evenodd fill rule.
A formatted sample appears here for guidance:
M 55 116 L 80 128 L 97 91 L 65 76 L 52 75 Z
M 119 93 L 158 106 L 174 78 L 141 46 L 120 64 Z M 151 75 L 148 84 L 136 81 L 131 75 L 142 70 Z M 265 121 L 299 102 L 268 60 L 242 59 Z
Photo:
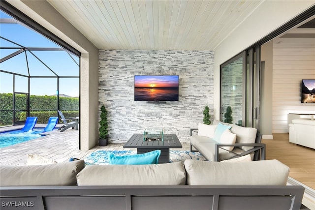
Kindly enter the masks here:
M 222 129 L 225 130 L 220 132 Z M 192 135 L 192 132 L 197 135 Z M 251 154 L 252 160 L 265 160 L 266 145 L 261 143 L 261 137 L 256 128 L 214 120 L 212 125 L 199 123 L 198 129 L 190 129 L 190 150 L 199 151 L 210 161 L 248 154 Z

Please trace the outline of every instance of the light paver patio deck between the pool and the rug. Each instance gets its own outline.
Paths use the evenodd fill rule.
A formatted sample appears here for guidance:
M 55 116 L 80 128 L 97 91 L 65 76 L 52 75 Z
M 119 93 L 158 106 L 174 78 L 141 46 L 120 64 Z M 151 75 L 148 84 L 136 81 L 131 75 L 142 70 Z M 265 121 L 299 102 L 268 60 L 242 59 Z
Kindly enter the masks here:
M 45 126 L 45 124 L 36 124 L 35 128 Z M 22 127 L 23 125 L 1 127 L 0 132 Z M 106 147 L 95 146 L 91 150 L 79 150 L 79 130 L 67 129 L 64 132 L 53 130 L 48 134 L 27 142 L 0 148 L 0 165 L 26 165 L 28 154 L 39 154 L 57 162 L 67 162 L 70 157 L 84 159 L 96 150 L 136 150 L 124 149 L 124 144 L 108 144 Z M 189 144 L 183 144 L 183 149 L 180 150 L 189 150 Z

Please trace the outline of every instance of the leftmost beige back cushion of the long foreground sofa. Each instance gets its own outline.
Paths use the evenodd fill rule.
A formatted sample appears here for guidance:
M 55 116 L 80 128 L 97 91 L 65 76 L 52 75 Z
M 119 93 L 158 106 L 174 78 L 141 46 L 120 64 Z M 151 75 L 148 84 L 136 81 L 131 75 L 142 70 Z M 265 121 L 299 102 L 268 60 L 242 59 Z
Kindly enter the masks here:
M 0 186 L 76 185 L 84 160 L 50 165 L 1 166 Z

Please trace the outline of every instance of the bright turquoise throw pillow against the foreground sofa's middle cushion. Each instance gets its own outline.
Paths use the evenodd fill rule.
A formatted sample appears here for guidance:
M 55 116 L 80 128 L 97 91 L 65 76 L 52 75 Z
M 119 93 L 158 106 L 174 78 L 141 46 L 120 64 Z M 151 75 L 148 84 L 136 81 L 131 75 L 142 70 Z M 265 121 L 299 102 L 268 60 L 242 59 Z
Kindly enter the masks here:
M 115 155 L 108 153 L 108 161 L 111 165 L 145 165 L 158 164 L 161 150 L 149 151 L 143 154 Z

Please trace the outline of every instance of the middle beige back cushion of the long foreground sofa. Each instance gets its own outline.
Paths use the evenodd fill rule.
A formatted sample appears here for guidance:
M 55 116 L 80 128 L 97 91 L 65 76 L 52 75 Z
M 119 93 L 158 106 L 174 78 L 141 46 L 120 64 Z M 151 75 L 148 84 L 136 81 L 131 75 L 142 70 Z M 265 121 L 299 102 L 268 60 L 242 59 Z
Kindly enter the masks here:
M 86 166 L 77 175 L 78 185 L 184 185 L 182 162 L 157 165 Z

